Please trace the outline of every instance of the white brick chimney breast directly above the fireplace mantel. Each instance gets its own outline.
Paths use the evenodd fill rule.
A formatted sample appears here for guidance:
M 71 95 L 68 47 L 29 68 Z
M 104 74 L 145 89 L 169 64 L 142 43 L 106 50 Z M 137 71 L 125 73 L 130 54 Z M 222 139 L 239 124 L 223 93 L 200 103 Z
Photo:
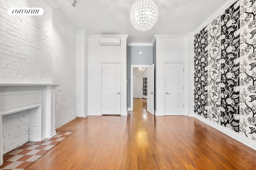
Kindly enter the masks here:
M 42 16 L 9 16 L 11 7 L 41 7 Z M 52 9 L 42 0 L 0 0 L 0 82 L 52 82 Z

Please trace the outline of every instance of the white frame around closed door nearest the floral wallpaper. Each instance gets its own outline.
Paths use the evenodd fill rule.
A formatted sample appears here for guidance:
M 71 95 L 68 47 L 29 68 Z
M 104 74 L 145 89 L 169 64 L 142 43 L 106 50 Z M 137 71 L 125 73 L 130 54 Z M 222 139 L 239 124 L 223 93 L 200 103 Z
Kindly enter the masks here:
M 184 115 L 186 115 L 185 114 L 185 111 L 186 111 L 186 100 L 187 100 L 187 98 L 186 98 L 186 96 L 185 96 L 185 94 L 186 94 L 186 84 L 185 84 L 185 64 L 186 64 L 186 62 L 185 61 L 164 61 L 164 70 L 163 70 L 163 75 L 164 75 L 164 77 L 163 77 L 163 79 L 164 79 L 164 81 L 163 81 L 163 86 L 164 86 L 164 95 L 163 95 L 163 110 L 164 110 L 164 116 L 165 116 L 165 92 L 166 92 L 166 89 L 165 89 L 165 65 L 166 64 L 183 64 L 183 68 L 184 68 L 184 72 L 183 72 L 183 86 L 184 86 L 184 93 L 183 93 L 183 98 L 184 98 Z

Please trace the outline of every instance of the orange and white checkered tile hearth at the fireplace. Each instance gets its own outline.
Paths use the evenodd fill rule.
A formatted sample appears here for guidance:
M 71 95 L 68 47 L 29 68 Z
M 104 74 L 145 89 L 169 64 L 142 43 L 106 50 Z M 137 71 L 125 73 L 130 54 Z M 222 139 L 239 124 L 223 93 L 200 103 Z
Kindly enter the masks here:
M 40 142 L 28 142 L 17 149 L 4 154 L 4 164 L 0 170 L 24 170 L 43 154 L 68 137 L 72 132 L 56 132 L 52 138 L 46 138 Z

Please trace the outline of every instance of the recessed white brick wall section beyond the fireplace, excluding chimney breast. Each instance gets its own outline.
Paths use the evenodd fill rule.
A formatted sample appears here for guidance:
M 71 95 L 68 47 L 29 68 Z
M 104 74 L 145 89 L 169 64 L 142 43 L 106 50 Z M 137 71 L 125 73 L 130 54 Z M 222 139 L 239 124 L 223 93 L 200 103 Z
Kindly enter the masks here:
M 55 90 L 55 126 L 76 117 L 76 31 L 53 14 L 53 82 Z

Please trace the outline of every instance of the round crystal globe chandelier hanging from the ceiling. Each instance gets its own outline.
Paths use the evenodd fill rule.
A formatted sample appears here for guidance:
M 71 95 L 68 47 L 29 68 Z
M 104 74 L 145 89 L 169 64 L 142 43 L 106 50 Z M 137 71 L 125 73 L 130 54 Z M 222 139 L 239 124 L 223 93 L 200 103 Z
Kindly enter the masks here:
M 148 31 L 158 19 L 158 8 L 153 0 L 136 0 L 130 10 L 130 20 L 135 29 Z

